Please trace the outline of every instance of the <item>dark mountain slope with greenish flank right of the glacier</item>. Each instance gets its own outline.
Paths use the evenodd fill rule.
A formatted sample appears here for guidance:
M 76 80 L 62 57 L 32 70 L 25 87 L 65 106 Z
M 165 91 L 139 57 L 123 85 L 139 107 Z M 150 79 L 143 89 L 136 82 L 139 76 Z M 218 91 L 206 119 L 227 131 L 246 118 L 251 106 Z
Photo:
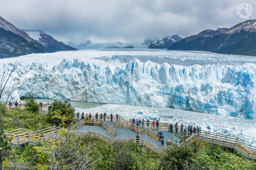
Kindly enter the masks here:
M 211 51 L 256 56 L 256 19 L 231 28 L 204 30 L 173 43 L 168 50 Z

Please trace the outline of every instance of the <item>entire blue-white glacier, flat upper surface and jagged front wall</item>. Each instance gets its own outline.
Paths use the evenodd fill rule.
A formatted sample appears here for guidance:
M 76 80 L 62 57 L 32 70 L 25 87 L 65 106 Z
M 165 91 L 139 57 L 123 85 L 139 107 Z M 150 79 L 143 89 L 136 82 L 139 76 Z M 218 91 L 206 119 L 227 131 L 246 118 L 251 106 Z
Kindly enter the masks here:
M 0 59 L 16 98 L 168 107 L 256 118 L 256 59 L 211 52 L 79 50 Z

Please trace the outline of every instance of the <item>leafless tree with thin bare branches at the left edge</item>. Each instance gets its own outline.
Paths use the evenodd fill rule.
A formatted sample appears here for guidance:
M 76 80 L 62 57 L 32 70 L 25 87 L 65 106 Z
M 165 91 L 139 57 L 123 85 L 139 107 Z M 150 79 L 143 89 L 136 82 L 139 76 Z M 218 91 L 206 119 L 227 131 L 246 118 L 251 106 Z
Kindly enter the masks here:
M 13 92 L 18 88 L 18 81 L 10 82 L 11 75 L 17 70 L 18 62 L 15 62 L 12 68 L 3 67 L 1 80 L 0 80 L 0 115 L 1 115 L 1 131 L 0 131 L 0 169 L 3 169 L 3 161 L 7 151 L 9 150 L 8 141 L 4 135 L 4 116 L 6 114 L 6 105 L 13 95 Z M 12 83 L 12 84 L 11 84 Z

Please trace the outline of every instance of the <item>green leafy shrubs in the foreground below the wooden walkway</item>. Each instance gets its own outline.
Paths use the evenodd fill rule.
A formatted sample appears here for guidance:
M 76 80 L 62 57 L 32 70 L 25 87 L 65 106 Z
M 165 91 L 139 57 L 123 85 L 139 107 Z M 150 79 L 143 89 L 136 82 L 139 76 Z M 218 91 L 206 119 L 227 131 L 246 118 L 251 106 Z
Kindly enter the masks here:
M 67 158 L 75 159 L 73 155 L 77 152 L 81 155 L 88 153 L 87 168 L 96 170 L 254 170 L 256 168 L 255 161 L 247 160 L 229 150 L 223 151 L 220 146 L 200 140 L 182 147 L 175 147 L 176 144 L 174 144 L 167 153 L 154 152 L 132 142 L 115 142 L 109 145 L 98 138 L 79 137 L 74 134 L 65 141 L 59 139 L 45 146 L 26 145 L 25 149 L 13 148 L 14 152 L 9 156 L 8 161 L 18 164 L 19 167 L 26 165 L 36 170 L 51 169 L 53 158 L 52 153 L 49 153 L 55 148 L 57 167 L 63 170 L 69 169 L 70 166 L 67 163 L 71 164 L 74 160 L 68 160 L 63 165 L 58 164 L 62 158 L 57 151 L 60 147 L 59 150 L 63 150 Z M 10 166 L 8 163 L 5 165 Z

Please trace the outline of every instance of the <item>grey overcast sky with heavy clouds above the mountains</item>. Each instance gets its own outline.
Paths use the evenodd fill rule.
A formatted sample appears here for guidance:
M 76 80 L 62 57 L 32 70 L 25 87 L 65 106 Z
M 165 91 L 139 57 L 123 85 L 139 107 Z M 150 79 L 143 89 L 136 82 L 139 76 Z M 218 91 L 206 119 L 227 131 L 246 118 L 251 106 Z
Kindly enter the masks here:
M 22 29 L 41 30 L 59 41 L 139 42 L 246 21 L 237 7 L 248 3 L 256 19 L 256 0 L 0 0 L 0 16 Z

